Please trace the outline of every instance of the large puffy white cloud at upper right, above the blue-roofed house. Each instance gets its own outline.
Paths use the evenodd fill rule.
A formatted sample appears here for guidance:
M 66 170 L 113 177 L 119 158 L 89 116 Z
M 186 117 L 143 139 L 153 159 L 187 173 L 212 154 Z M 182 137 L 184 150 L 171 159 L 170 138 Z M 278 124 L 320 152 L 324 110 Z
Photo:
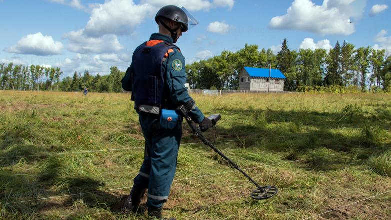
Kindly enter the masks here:
M 365 6 L 366 0 L 324 0 L 321 6 L 311 0 L 294 0 L 287 14 L 271 19 L 269 28 L 350 35 L 355 32 L 351 19 L 360 19 Z

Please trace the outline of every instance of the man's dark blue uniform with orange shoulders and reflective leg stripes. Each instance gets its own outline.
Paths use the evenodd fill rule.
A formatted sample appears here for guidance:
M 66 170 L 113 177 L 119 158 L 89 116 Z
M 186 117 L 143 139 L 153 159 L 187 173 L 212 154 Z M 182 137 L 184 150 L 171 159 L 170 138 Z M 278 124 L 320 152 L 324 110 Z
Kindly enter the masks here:
M 148 53 L 151 47 L 161 46 L 161 43 L 172 44 L 173 40 L 168 35 L 154 33 L 146 44 L 142 44 L 137 49 L 139 49 L 139 53 L 141 50 L 142 53 Z M 147 64 L 144 67 L 140 66 L 140 63 L 145 63 L 144 60 L 140 60 L 142 56 L 137 56 L 138 54 L 133 54 L 133 62 L 130 66 L 130 71 L 135 72 L 134 77 L 139 82 L 136 85 L 133 82 L 132 100 L 135 101 L 135 109 L 139 113 L 148 154 L 138 175 L 134 178 L 134 184 L 141 188 L 148 188 L 146 205 L 151 208 L 161 207 L 168 199 L 176 172 L 176 161 L 182 138 L 182 118 L 179 117 L 173 129 L 165 129 L 160 124 L 160 109 L 174 110 L 192 100 L 184 86 L 187 80 L 185 58 L 177 47 L 167 48 L 168 50 L 163 57 L 154 57 L 155 61 L 157 58 L 157 62 L 161 62 L 161 79 L 158 79 L 159 73 L 156 69 L 153 70 L 156 73 L 155 76 L 151 76 L 148 72 L 140 74 L 144 71 L 143 68 L 150 68 Z M 154 61 L 148 62 L 150 65 L 156 64 Z M 148 74 L 148 77 L 142 77 L 144 76 L 142 74 Z M 158 85 L 162 81 L 163 84 Z M 156 85 L 152 86 L 153 83 Z M 142 87 L 137 88 L 136 86 Z M 195 105 L 189 112 L 189 116 L 195 123 L 200 123 L 204 119 L 204 115 Z

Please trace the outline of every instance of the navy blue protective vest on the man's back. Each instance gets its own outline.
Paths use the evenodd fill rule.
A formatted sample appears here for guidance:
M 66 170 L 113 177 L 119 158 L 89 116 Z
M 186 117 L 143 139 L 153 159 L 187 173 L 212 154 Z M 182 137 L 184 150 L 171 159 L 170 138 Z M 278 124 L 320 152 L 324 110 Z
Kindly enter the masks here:
M 164 104 L 163 58 L 169 49 L 179 48 L 167 42 L 154 46 L 147 46 L 146 43 L 138 46 L 133 53 L 131 100 L 135 102 L 134 109 L 160 114 L 161 105 Z

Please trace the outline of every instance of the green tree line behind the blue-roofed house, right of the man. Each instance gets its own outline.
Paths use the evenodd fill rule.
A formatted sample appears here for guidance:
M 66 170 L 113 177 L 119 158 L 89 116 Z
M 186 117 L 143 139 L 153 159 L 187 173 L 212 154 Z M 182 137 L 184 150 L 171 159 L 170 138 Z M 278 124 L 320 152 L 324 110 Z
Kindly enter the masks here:
M 290 50 L 286 38 L 276 55 L 271 49 L 245 44 L 237 52 L 220 55 L 186 65 L 188 83 L 194 89 L 237 90 L 243 67 L 276 68 L 285 75 L 285 91 L 306 88 L 354 86 L 362 91 L 391 92 L 391 58 L 385 50 L 355 48 L 339 41 L 329 52 L 325 49 Z

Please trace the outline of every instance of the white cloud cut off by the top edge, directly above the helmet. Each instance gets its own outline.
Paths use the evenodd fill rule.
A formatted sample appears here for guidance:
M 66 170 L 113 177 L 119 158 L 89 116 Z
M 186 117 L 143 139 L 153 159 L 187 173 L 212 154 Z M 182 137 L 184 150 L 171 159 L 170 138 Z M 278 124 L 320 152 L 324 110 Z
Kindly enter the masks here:
M 205 10 L 209 11 L 210 8 L 214 7 L 228 7 L 232 9 L 235 1 L 234 0 L 141 0 L 140 4 L 151 4 L 158 8 L 165 5 L 176 5 L 178 7 L 185 7 L 189 11 Z

